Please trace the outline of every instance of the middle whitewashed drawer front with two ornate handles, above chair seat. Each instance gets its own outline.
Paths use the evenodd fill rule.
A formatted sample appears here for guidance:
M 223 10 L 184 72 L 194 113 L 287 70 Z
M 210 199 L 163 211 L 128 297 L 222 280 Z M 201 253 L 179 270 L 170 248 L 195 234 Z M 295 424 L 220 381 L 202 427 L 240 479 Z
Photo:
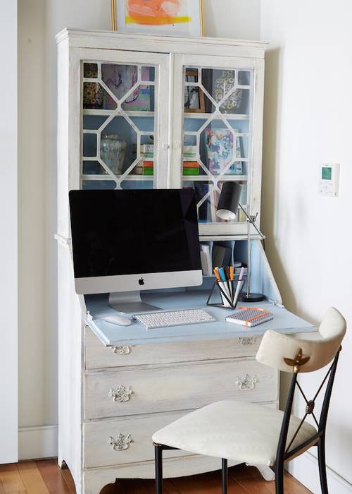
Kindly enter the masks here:
M 278 373 L 254 359 L 132 368 L 84 376 L 84 417 L 199 408 L 220 399 L 272 402 Z

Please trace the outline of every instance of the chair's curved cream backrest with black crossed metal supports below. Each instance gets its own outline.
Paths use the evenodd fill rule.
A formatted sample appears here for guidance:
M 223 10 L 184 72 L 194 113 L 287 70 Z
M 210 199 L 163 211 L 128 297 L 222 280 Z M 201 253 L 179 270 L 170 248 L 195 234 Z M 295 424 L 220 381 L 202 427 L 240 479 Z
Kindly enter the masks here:
M 293 373 L 277 445 L 277 472 L 283 469 L 284 462 L 298 456 L 298 454 L 307 450 L 308 447 L 318 444 L 318 442 L 324 440 L 325 437 L 325 427 L 332 394 L 332 386 L 334 384 L 337 362 L 339 360 L 341 342 L 346 333 L 346 320 L 336 308 L 331 307 L 328 309 L 325 318 L 320 324 L 319 333 L 319 339 L 301 339 L 289 335 L 281 335 L 275 331 L 267 331 L 263 336 L 256 355 L 256 359 L 260 363 L 278 370 L 283 370 L 284 372 Z M 329 367 L 324 380 L 318 387 L 318 391 L 315 393 L 313 399 L 308 400 L 301 385 L 299 385 L 297 381 L 298 373 L 313 372 L 314 370 L 327 366 L 330 362 L 332 362 L 332 365 Z M 327 382 L 327 387 L 322 409 L 320 411 L 320 418 L 318 420 L 314 413 L 315 399 L 318 397 L 325 382 Z M 298 387 L 298 390 L 306 401 L 306 414 L 303 416 L 291 442 L 287 445 L 289 421 L 291 418 L 296 387 Z M 306 440 L 306 442 L 291 449 L 291 445 L 294 442 L 298 430 L 303 425 L 306 417 L 310 414 L 313 416 L 316 423 L 317 433 L 313 435 L 312 438 Z

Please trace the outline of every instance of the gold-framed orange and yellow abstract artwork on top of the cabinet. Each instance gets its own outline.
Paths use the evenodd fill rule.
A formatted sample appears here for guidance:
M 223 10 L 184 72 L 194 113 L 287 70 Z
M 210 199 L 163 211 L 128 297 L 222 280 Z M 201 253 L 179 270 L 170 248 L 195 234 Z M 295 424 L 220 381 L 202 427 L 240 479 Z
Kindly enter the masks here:
M 203 36 L 203 0 L 111 0 L 113 30 Z

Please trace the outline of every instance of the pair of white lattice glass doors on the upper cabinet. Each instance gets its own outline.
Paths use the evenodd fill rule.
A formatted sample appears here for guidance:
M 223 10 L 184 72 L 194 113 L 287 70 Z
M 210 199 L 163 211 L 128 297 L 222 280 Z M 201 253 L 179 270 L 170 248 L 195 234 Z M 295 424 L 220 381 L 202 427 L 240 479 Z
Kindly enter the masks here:
M 263 47 L 258 56 L 248 56 L 246 46 L 230 56 L 221 44 L 218 54 L 194 54 L 196 44 L 184 40 L 182 53 L 177 39 L 166 40 L 159 52 L 155 43 L 144 51 L 146 41 L 143 51 L 72 50 L 70 92 L 80 121 L 69 126 L 69 139 L 71 166 L 80 169 L 79 177 L 73 174 L 77 186 L 192 188 L 202 236 L 246 234 L 243 212 L 225 222 L 216 207 L 222 185 L 237 181 L 241 205 L 260 213 Z M 77 120 L 77 111 L 70 112 Z

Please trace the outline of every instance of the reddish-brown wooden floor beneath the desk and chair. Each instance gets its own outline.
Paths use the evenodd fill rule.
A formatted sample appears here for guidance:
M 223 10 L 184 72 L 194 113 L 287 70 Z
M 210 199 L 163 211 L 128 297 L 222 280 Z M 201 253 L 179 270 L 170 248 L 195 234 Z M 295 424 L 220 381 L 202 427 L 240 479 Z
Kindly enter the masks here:
M 285 477 L 285 494 L 309 494 L 289 474 Z M 220 472 L 164 481 L 165 494 L 221 494 Z M 54 459 L 0 465 L 0 494 L 75 494 L 68 469 L 61 470 Z M 118 481 L 106 486 L 101 494 L 153 494 L 153 481 Z M 229 469 L 228 494 L 275 494 L 275 483 L 266 482 L 249 466 Z

